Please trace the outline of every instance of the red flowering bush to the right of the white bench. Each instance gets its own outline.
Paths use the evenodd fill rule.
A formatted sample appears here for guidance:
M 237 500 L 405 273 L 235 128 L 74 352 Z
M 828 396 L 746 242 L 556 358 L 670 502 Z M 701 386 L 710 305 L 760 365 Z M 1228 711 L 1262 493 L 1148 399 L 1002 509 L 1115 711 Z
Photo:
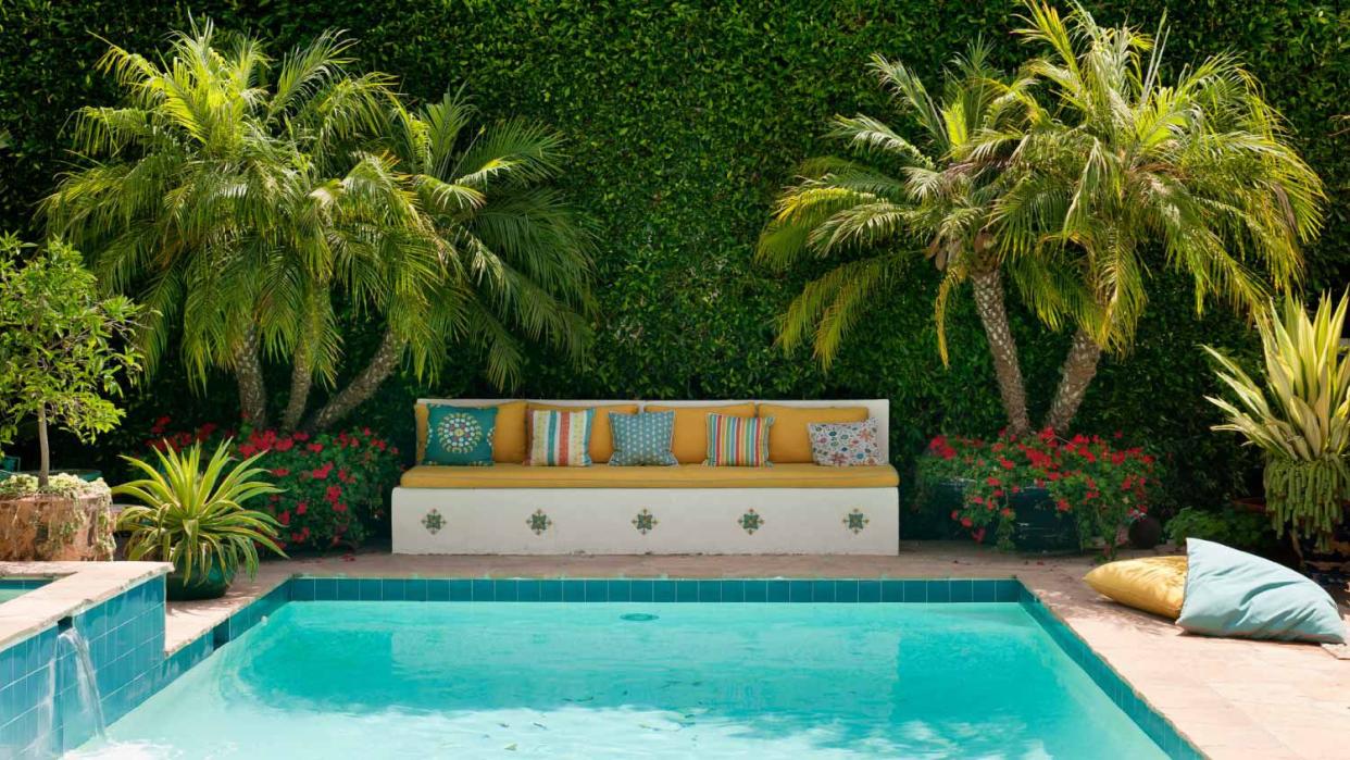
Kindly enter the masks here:
M 918 481 L 964 486 L 952 520 L 976 541 L 1014 548 L 1017 510 L 1048 499 L 1075 518 L 1083 548 L 1100 539 L 1114 555 L 1123 531 L 1148 514 L 1158 486 L 1157 459 L 1141 447 L 1123 447 L 1122 437 L 1064 440 L 1053 431 L 1026 439 L 937 436 L 919 459 Z

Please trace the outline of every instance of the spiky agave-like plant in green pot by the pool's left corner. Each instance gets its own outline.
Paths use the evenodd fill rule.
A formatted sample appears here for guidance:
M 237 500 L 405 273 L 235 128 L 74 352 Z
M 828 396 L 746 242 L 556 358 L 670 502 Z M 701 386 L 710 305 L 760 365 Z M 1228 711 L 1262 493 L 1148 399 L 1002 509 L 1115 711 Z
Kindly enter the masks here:
M 278 524 L 270 514 L 244 508 L 244 502 L 279 489 L 258 477 L 256 454 L 230 467 L 231 441 L 216 448 L 205 468 L 201 444 L 178 451 L 157 451 L 158 467 L 123 456 L 144 478 L 112 490 L 142 502 L 123 510 L 119 529 L 127 531 L 128 559 L 171 562 L 170 599 L 213 599 L 224 595 L 243 567 L 258 572 L 258 547 L 281 556 Z

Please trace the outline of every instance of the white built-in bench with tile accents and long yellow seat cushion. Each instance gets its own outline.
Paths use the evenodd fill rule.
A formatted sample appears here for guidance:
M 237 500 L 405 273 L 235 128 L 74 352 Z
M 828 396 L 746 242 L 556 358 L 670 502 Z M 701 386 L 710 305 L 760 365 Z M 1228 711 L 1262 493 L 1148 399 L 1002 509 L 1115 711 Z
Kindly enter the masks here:
M 493 406 L 502 400 L 424 400 Z M 537 401 L 601 406 L 617 401 Z M 639 402 L 641 404 L 641 402 Z M 660 401 L 713 406 L 720 401 Z M 736 402 L 745 404 L 745 402 Z M 865 406 L 888 462 L 890 404 Z M 899 548 L 898 475 L 890 464 L 822 467 L 417 466 L 393 494 L 396 553 L 861 553 Z

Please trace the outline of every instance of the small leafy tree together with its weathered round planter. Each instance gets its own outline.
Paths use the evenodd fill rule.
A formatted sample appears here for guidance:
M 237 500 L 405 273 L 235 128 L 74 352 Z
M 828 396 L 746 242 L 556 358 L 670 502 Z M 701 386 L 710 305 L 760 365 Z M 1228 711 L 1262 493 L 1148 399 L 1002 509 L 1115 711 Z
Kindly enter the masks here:
M 101 297 L 80 254 L 53 242 L 32 248 L 0 236 L 0 444 L 36 423 L 39 464 L 0 489 L 0 559 L 112 559 L 112 498 L 97 478 L 51 474 L 49 432 L 89 441 L 122 420 L 107 396 L 139 370 L 131 343 L 138 306 Z

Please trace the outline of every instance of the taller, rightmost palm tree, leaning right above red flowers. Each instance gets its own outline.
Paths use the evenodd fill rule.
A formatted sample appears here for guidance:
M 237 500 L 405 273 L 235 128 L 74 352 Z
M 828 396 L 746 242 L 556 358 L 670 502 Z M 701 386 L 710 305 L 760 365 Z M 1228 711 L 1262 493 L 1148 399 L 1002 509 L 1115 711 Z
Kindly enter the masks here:
M 1322 182 L 1282 119 L 1228 54 L 1165 82 L 1157 39 L 1027 1 L 1025 39 L 1049 47 L 1026 72 L 1053 108 L 977 151 L 1015 146 L 991 213 L 1014 281 L 1038 316 L 1076 332 L 1045 427 L 1066 429 L 1103 351 L 1122 352 L 1148 302 L 1148 255 L 1210 298 L 1261 309 L 1297 282 L 1322 224 Z M 1052 281 L 1046 281 L 1050 273 Z M 1050 282 L 1049 286 L 1046 283 Z

